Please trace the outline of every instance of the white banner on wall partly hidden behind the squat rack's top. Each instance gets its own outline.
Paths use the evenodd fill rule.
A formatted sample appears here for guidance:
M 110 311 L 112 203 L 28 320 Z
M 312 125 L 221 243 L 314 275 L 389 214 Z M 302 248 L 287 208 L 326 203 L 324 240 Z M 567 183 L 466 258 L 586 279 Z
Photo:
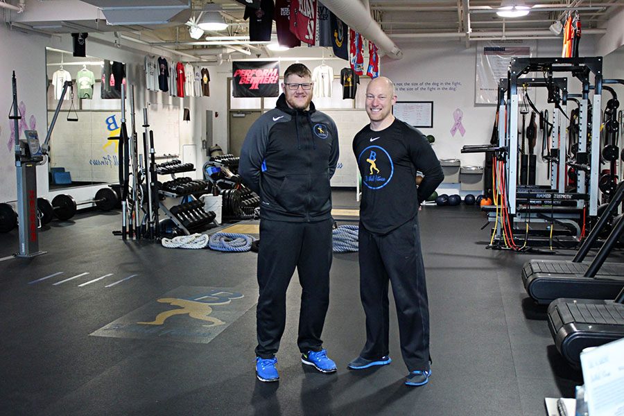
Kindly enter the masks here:
M 476 79 L 474 85 L 475 104 L 497 103 L 499 79 L 507 78 L 511 58 L 531 58 L 535 46 L 499 44 L 487 42 L 480 44 L 476 57 Z

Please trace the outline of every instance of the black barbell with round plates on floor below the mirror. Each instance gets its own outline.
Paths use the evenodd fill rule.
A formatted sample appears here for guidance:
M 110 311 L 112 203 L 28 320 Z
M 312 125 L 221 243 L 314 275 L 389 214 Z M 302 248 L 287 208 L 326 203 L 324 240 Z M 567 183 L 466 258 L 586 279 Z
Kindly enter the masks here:
M 45 198 L 37 199 L 37 207 L 42 214 L 42 223 L 44 224 L 52 220 L 52 214 L 60 220 L 69 220 L 76 215 L 76 210 L 80 205 L 95 204 L 102 211 L 110 211 L 118 203 L 117 194 L 110 188 L 98 189 L 94 199 L 84 202 L 76 202 L 71 195 L 64 193 L 55 196 L 51 203 Z

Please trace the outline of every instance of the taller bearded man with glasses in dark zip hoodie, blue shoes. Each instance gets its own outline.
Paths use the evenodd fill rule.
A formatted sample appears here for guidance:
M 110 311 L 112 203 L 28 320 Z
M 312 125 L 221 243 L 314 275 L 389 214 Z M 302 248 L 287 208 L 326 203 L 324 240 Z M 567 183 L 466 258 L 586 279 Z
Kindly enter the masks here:
M 277 381 L 275 354 L 286 324 L 286 289 L 295 267 L 302 286 L 297 345 L 302 362 L 335 372 L 321 333 L 329 305 L 331 188 L 338 131 L 312 103 L 311 72 L 292 64 L 275 109 L 250 128 L 239 174 L 260 196 L 256 375 Z

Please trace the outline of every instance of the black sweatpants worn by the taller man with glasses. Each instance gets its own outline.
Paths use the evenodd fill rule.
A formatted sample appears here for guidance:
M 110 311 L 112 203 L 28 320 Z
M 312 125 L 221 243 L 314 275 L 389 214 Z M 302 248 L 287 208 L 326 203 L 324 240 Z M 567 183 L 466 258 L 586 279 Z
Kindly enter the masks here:
M 320 351 L 329 306 L 332 220 L 315 223 L 260 221 L 256 355 L 272 358 L 286 325 L 286 289 L 295 267 L 302 286 L 297 345 Z

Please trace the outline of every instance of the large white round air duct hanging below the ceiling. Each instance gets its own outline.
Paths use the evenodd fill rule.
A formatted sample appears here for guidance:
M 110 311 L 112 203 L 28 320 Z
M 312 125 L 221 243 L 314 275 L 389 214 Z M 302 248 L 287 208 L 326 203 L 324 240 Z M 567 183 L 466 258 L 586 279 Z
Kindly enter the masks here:
M 347 26 L 373 42 L 390 58 L 403 58 L 403 52 L 399 46 L 395 45 L 395 42 L 392 42 L 390 37 L 381 30 L 361 0 L 323 0 L 323 6 L 331 10 Z

